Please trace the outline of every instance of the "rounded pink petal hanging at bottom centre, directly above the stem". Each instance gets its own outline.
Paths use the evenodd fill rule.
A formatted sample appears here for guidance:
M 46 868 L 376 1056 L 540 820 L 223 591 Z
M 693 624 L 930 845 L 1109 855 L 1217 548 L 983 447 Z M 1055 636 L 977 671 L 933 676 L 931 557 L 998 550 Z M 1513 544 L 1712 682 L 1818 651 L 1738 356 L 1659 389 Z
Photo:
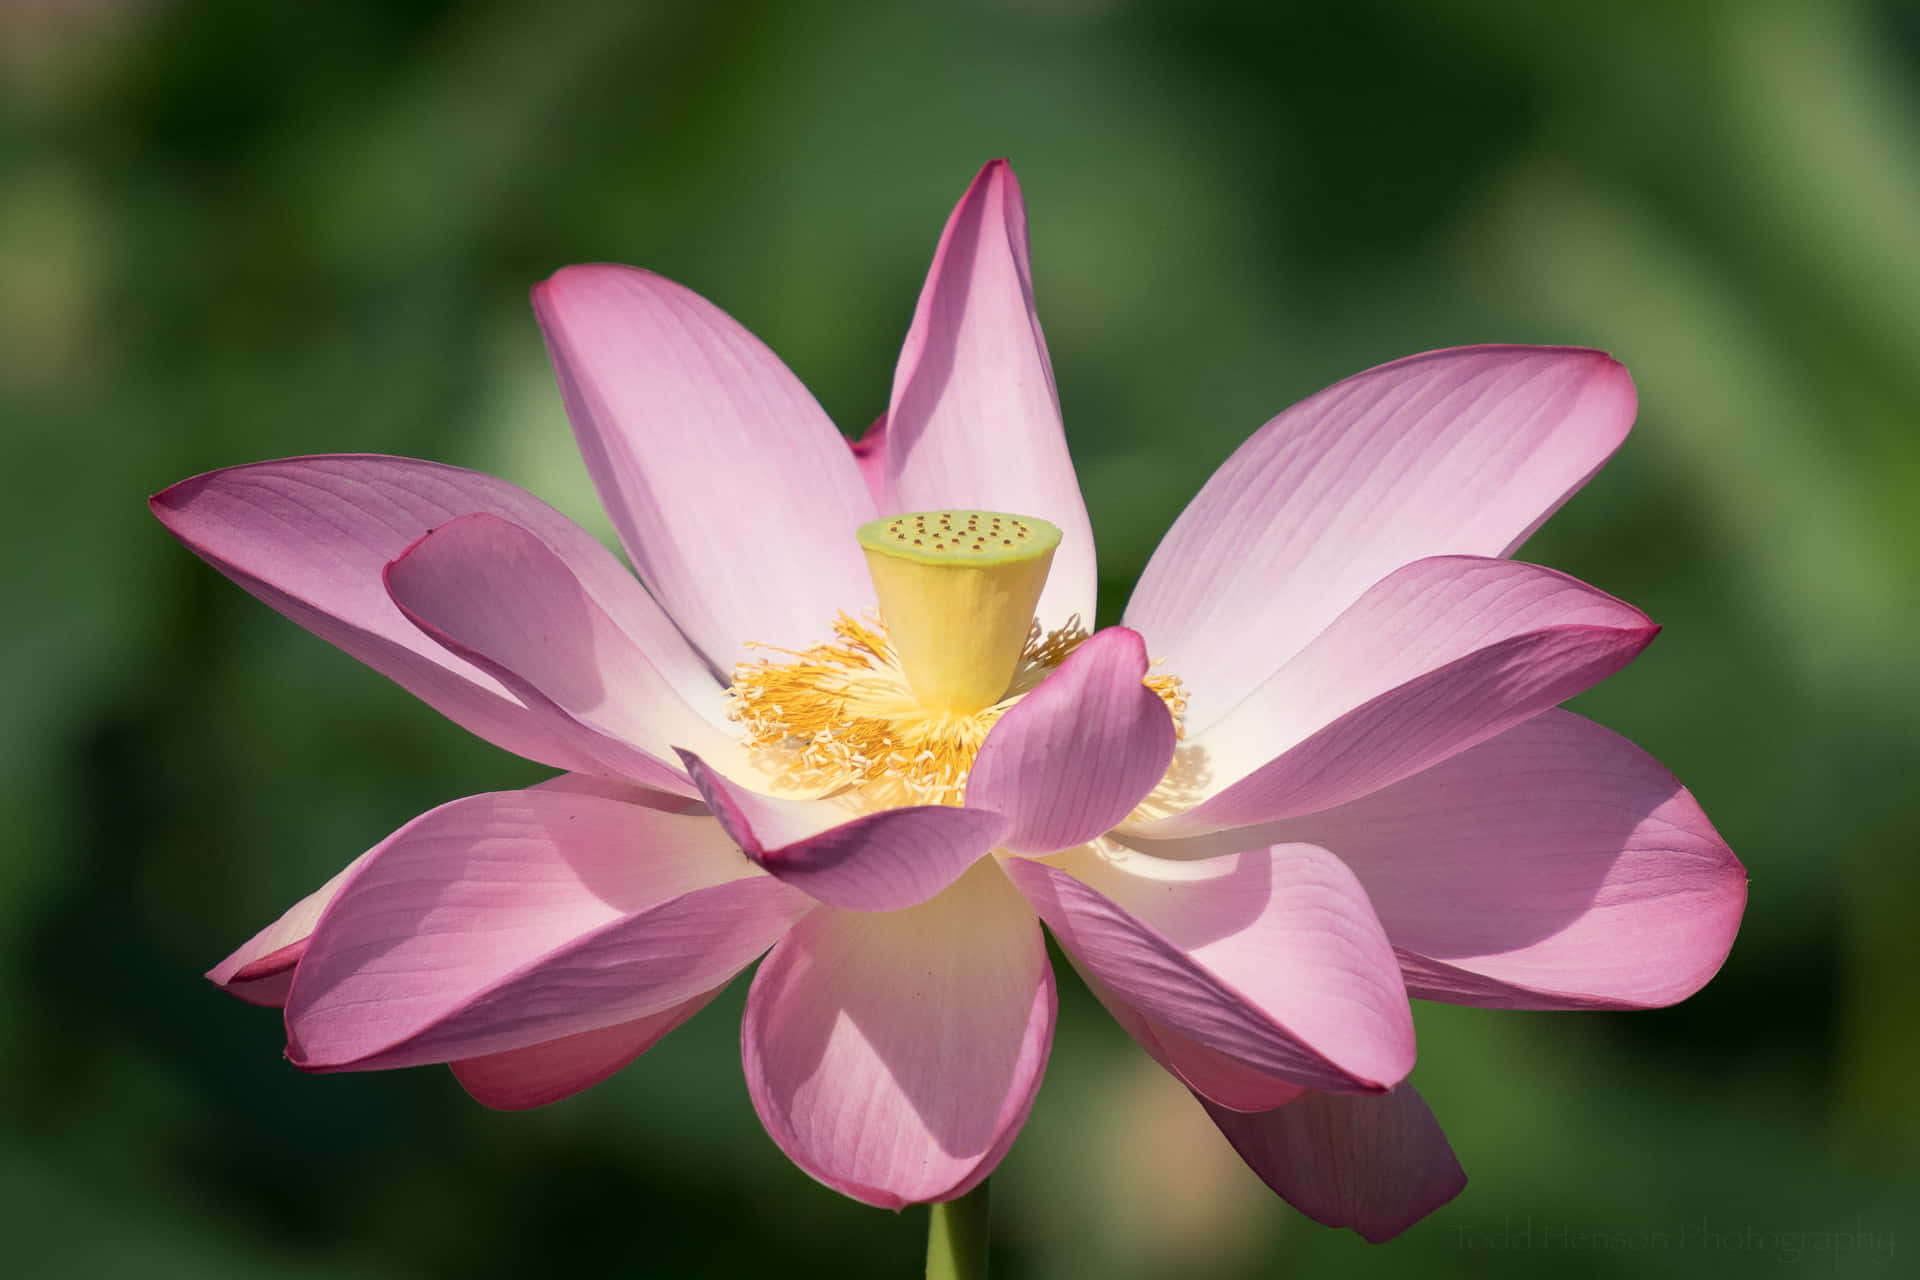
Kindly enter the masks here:
M 747 1090 L 808 1174 L 881 1209 L 979 1184 L 1054 1034 L 1039 921 L 993 864 L 906 912 L 820 910 L 747 994 Z

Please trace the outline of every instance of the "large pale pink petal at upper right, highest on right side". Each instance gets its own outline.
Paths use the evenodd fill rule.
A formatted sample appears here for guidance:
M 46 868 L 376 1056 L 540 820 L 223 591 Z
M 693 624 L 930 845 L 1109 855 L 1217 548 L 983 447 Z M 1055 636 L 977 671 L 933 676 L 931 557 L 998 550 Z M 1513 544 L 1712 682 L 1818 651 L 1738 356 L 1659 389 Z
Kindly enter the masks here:
M 1375 581 L 1432 555 L 1505 557 L 1634 420 L 1599 351 L 1461 347 L 1371 368 L 1267 422 L 1160 543 L 1125 622 L 1206 729 Z

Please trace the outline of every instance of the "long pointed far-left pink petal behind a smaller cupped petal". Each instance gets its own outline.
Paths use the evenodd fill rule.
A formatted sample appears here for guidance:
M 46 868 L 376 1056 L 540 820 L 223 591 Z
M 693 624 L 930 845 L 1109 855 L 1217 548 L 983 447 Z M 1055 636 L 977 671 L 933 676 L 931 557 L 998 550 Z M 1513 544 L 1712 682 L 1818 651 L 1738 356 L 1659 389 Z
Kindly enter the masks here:
M 484 510 L 530 530 L 682 697 L 718 708 L 720 687 L 634 576 L 591 533 L 505 480 L 372 455 L 253 462 L 182 480 L 152 499 L 190 551 L 455 723 L 516 754 L 593 768 L 578 745 L 486 672 L 409 624 L 380 572 L 434 526 Z

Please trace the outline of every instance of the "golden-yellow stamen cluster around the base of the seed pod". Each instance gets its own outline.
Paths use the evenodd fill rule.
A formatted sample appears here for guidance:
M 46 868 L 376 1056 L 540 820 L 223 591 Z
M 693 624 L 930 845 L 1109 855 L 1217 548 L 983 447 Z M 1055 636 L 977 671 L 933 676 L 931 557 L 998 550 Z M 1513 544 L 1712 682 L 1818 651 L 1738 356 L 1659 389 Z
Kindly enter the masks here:
M 960 804 L 987 731 L 1087 639 L 1077 618 L 1046 633 L 1035 622 L 1006 693 L 952 712 L 920 704 L 877 620 L 841 614 L 833 633 L 804 651 L 760 645 L 787 660 L 733 668 L 728 714 L 780 791 L 845 793 L 864 810 Z M 1179 677 L 1150 676 L 1146 685 L 1177 727 L 1187 710 Z

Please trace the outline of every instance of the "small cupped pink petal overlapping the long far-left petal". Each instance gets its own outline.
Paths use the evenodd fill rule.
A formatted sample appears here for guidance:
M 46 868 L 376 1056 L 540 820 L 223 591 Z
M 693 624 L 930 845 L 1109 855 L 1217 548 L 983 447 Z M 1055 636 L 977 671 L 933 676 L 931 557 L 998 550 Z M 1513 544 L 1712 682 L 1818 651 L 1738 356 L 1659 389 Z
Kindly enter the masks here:
M 599 771 L 687 791 L 676 747 L 726 754 L 695 712 L 547 545 L 499 516 L 449 520 L 386 570 L 399 610 L 572 733 Z

